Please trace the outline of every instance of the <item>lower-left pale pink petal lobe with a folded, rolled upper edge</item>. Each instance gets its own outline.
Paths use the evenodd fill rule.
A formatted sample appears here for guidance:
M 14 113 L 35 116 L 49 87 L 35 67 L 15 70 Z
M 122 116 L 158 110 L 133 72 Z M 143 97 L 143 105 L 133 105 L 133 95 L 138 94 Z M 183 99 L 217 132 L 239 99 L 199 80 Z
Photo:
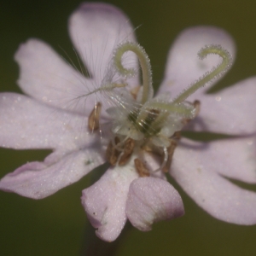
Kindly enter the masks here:
M 0 189 L 33 199 L 41 199 L 77 182 L 104 162 L 96 149 L 67 154 L 55 164 L 31 162 L 0 180 Z

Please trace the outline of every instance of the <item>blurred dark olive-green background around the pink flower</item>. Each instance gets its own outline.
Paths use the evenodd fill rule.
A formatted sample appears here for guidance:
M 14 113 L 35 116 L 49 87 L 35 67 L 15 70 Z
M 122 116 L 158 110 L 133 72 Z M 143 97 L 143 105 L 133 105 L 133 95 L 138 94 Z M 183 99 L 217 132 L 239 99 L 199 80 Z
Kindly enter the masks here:
M 1 91 L 20 91 L 15 83 L 19 69 L 13 56 L 27 38 L 41 38 L 61 55 L 61 48 L 72 53 L 67 18 L 79 3 L 77 0 L 1 1 Z M 256 75 L 256 1 L 109 0 L 107 3 L 123 9 L 133 25 L 139 26 L 137 39 L 148 52 L 156 85 L 163 76 L 166 53 L 173 39 L 184 28 L 196 25 L 223 27 L 236 41 L 235 65 L 218 86 Z M 47 154 L 46 150 L 1 148 L 0 177 L 27 161 L 44 160 Z M 90 176 L 84 177 L 41 201 L 0 191 L 0 254 L 80 255 L 88 224 L 80 195 L 89 181 Z M 147 233 L 132 229 L 118 248 L 119 256 L 254 255 L 256 226 L 227 224 L 212 218 L 172 183 L 183 197 L 185 216 L 154 224 Z M 256 185 L 249 189 L 256 191 Z

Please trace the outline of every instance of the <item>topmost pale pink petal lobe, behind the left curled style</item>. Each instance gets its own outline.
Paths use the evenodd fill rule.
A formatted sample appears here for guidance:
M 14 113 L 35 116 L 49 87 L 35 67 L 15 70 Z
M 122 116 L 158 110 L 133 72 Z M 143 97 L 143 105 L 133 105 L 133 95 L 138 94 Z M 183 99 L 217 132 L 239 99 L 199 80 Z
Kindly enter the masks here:
M 82 3 L 69 21 L 73 44 L 95 84 L 100 86 L 102 80 L 111 79 L 115 72 L 109 66 L 115 47 L 127 41 L 135 42 L 134 29 L 120 9 L 107 3 Z M 123 65 L 137 69 L 137 56 L 127 53 Z M 138 77 L 131 79 L 133 85 L 138 82 Z

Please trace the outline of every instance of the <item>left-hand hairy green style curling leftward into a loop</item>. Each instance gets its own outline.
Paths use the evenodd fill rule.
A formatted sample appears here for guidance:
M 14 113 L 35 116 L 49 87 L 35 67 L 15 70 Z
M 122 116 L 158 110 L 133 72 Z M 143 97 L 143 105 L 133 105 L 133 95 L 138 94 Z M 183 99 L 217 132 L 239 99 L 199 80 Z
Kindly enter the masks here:
M 149 98 L 153 96 L 154 92 L 152 86 L 152 73 L 150 61 L 147 53 L 139 44 L 128 42 L 119 45 L 119 47 L 115 50 L 115 53 L 113 55 L 113 63 L 117 71 L 125 78 L 133 77 L 137 73 L 134 68 L 125 68 L 122 64 L 122 56 L 127 51 L 134 52 L 140 61 L 140 66 L 143 72 L 143 96 L 141 103 L 144 104 L 148 101 Z

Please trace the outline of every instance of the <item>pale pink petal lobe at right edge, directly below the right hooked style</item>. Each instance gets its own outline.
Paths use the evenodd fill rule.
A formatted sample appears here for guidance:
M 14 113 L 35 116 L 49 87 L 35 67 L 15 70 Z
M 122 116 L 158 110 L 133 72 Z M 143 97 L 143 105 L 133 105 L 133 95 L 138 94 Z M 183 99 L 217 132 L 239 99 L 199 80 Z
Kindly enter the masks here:
M 189 123 L 193 131 L 249 134 L 256 131 L 256 77 L 243 80 L 215 94 L 205 95 L 199 116 Z

